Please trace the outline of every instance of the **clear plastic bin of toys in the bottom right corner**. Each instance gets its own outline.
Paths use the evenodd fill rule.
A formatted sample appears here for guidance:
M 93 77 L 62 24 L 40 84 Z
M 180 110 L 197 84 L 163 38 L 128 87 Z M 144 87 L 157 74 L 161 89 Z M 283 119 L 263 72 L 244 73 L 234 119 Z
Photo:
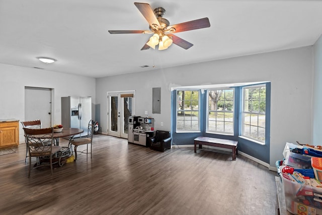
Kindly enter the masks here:
M 288 211 L 301 215 L 322 215 L 322 188 L 300 184 L 281 175 Z

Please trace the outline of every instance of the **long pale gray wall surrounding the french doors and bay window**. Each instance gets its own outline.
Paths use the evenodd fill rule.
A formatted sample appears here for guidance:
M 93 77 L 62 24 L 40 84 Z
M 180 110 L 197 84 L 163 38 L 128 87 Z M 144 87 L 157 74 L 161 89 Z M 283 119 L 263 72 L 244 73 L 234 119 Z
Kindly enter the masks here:
M 107 129 L 108 91 L 136 90 L 136 115 L 147 110 L 155 129 L 171 128 L 171 87 L 271 81 L 270 166 L 283 158 L 286 141 L 311 142 L 311 46 L 105 77 L 96 81 L 100 126 Z M 161 87 L 161 114 L 152 113 L 152 88 Z M 160 126 L 160 122 L 164 126 Z

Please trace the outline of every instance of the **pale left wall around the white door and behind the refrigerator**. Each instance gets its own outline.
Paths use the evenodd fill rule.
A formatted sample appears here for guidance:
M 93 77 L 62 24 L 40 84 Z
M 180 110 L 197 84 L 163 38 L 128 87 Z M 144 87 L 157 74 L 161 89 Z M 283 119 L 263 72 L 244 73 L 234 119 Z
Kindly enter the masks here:
M 53 124 L 61 123 L 61 101 L 64 96 L 91 96 L 95 117 L 95 79 L 44 69 L 0 64 L 0 119 L 25 120 L 25 86 L 54 89 Z M 56 112 L 58 110 L 58 112 Z M 20 123 L 19 140 L 24 142 Z

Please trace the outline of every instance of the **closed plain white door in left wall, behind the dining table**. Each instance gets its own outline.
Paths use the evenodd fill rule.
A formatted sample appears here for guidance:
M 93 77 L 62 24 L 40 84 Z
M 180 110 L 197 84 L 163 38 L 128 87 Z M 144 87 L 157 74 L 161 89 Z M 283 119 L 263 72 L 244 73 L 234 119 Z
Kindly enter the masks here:
M 51 89 L 25 87 L 25 121 L 37 119 L 51 127 Z

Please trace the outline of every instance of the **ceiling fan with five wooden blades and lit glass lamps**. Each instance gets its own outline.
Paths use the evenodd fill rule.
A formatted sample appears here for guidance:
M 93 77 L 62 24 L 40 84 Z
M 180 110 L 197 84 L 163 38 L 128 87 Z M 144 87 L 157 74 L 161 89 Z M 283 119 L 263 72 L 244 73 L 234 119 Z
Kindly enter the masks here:
M 164 8 L 152 10 L 147 3 L 134 3 L 134 5 L 149 23 L 150 30 L 109 30 L 109 32 L 110 34 L 153 34 L 141 50 L 147 50 L 150 47 L 154 49 L 156 45 L 158 45 L 159 50 L 163 50 L 167 49 L 172 43 L 188 49 L 193 44 L 175 36 L 173 33 L 210 27 L 208 18 L 170 25 L 170 22 L 163 18 L 166 13 Z

